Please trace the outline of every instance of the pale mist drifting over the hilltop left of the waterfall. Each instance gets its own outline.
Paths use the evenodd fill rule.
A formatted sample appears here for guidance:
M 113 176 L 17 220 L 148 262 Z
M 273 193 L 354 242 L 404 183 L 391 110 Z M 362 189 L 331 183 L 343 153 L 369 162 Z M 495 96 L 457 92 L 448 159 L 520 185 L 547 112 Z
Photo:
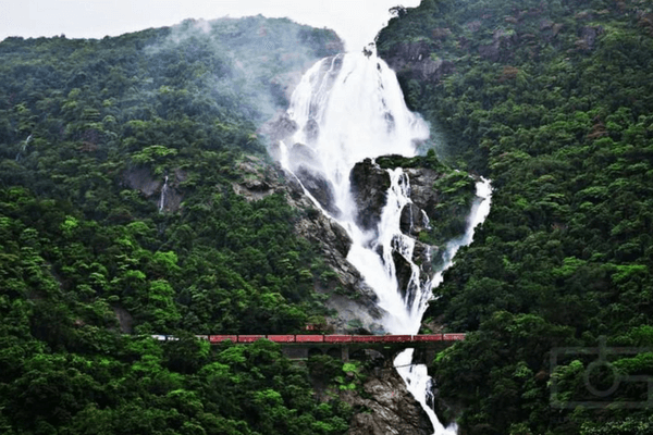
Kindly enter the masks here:
M 304 71 L 343 50 L 332 30 L 262 15 L 186 20 L 173 26 L 163 42 L 145 48 L 161 67 L 174 67 L 180 61 L 192 63 L 195 98 L 209 97 L 221 107 L 237 101 L 238 107 L 229 109 L 256 123 L 287 108 Z M 174 85 L 174 75 L 169 82 Z

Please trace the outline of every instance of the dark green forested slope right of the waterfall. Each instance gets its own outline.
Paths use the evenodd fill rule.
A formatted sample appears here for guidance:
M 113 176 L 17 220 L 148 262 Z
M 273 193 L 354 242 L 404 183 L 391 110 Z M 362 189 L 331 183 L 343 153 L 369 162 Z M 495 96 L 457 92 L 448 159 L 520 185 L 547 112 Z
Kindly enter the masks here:
M 442 412 L 465 434 L 653 433 L 651 2 L 393 11 L 380 55 L 494 188 L 427 312 L 469 332 L 432 362 Z

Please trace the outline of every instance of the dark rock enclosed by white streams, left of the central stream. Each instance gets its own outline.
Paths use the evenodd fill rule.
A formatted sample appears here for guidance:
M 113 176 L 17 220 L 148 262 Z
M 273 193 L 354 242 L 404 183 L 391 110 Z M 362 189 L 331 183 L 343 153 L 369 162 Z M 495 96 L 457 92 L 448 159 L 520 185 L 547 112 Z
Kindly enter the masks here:
M 356 223 L 367 231 L 375 229 L 387 200 L 390 175 L 371 159 L 365 159 L 354 165 L 349 182 L 352 196 L 358 210 Z

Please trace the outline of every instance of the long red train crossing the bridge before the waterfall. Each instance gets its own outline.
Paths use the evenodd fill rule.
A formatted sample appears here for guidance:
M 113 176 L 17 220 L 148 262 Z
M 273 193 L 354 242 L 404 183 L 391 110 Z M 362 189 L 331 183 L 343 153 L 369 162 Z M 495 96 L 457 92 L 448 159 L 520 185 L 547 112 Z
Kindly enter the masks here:
M 208 340 L 211 344 L 223 341 L 232 343 L 254 343 L 259 339 L 287 344 L 312 344 L 312 343 L 423 343 L 423 341 L 460 341 L 465 339 L 465 334 L 419 334 L 419 335 L 196 335 L 199 339 Z M 172 335 L 155 334 L 152 338 L 160 341 L 171 341 L 178 338 Z

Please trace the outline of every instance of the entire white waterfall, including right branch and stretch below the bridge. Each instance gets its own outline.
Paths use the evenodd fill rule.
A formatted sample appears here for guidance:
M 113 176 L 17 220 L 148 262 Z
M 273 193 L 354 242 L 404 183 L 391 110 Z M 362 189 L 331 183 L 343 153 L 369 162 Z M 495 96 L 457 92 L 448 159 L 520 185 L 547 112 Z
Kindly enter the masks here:
M 347 260 L 377 294 L 380 308 L 386 312 L 384 328 L 393 334 L 417 334 L 433 287 L 442 281 L 442 273 L 452 264 L 458 248 L 471 241 L 473 228 L 489 212 L 490 183 L 477 183 L 477 199 L 465 235 L 447 244 L 443 265 L 424 281 L 412 261 L 415 239 L 399 228 L 402 210 L 410 202 L 408 175 L 401 167 L 387 171 L 391 187 L 375 231 L 357 225 L 350 194 L 349 173 L 356 163 L 385 154 L 414 157 L 417 145 L 429 138 L 428 125 L 406 107 L 394 72 L 373 52 L 323 59 L 301 78 L 287 117 L 297 129 L 280 144 L 282 166 L 300 184 L 300 172 L 328 182 L 335 207 L 322 207 L 306 187 L 304 190 L 318 209 L 349 234 L 353 244 Z M 411 219 L 414 223 L 421 221 L 424 227 L 431 225 L 426 213 Z M 406 288 L 398 288 L 396 256 L 409 264 Z M 408 389 L 431 418 L 435 434 L 455 434 L 456 427 L 444 428 L 428 403 L 432 381 L 427 368 L 411 361 L 412 349 L 395 360 Z

